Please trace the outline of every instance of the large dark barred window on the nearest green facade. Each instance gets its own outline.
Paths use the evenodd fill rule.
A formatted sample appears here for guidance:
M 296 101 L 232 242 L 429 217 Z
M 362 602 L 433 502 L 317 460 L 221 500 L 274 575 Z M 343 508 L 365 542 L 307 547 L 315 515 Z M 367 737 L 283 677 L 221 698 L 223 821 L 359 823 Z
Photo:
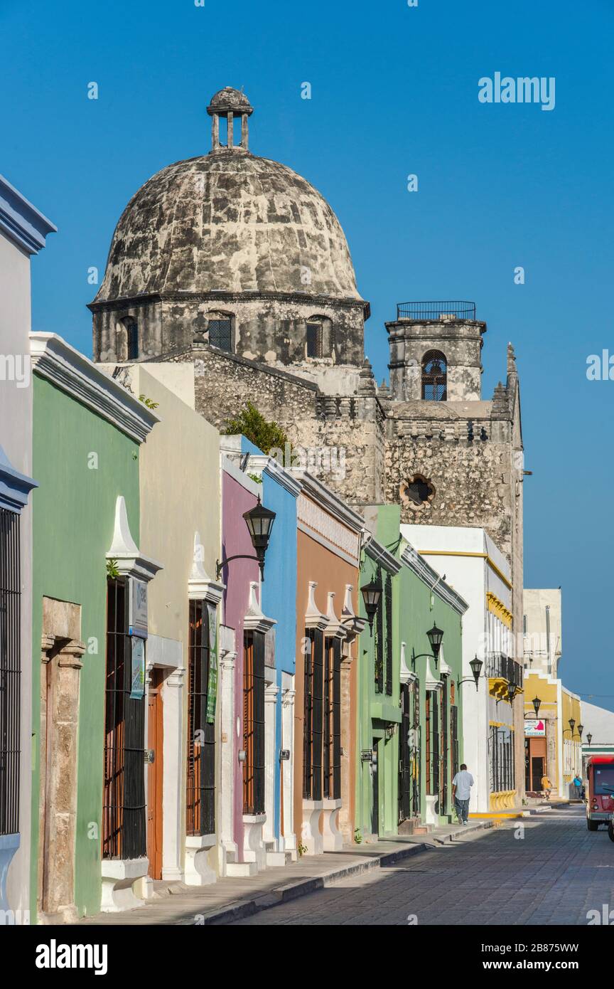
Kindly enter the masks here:
M 104 858 L 140 858 L 147 854 L 145 698 L 130 697 L 132 662 L 126 591 L 122 580 L 107 582 Z

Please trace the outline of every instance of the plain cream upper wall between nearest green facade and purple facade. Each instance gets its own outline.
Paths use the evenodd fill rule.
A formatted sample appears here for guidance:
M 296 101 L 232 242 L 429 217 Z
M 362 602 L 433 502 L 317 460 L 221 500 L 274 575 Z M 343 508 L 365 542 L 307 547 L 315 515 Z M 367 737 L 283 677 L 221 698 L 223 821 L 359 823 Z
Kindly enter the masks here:
M 187 645 L 194 532 L 211 579 L 219 556 L 219 435 L 142 366 L 130 374 L 161 419 L 140 448 L 140 550 L 164 568 L 149 585 L 149 630 Z

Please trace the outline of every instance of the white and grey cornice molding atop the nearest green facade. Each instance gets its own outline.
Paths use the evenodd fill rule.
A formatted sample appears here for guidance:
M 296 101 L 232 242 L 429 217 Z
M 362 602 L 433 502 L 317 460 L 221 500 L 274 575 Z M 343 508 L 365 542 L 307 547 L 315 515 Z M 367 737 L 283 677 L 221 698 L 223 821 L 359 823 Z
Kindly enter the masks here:
M 160 419 L 56 333 L 31 333 L 35 374 L 142 443 Z

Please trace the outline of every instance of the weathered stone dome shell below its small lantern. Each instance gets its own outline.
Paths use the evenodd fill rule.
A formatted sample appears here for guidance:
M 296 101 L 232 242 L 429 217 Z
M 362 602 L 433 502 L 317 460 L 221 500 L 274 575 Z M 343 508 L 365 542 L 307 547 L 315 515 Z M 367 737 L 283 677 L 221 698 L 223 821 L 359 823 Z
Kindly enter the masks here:
M 324 197 L 241 146 L 214 145 L 139 189 L 115 228 L 95 302 L 216 291 L 360 300 Z

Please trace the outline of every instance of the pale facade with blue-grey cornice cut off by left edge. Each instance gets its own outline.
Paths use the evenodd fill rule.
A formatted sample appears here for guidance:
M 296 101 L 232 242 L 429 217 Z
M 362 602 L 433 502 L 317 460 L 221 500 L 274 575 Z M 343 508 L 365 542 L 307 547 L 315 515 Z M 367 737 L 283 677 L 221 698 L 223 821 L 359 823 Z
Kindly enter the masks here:
M 0 924 L 27 924 L 32 731 L 30 261 L 55 230 L 0 175 Z

